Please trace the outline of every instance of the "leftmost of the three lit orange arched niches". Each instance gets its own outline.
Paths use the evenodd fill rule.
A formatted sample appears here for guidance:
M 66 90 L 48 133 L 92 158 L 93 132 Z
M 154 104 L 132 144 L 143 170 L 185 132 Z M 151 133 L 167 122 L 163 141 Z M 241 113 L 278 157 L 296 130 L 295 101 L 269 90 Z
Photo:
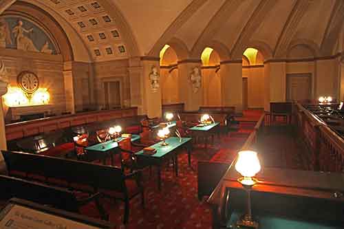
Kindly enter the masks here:
M 169 45 L 160 51 L 160 85 L 163 105 L 179 102 L 178 56 Z

